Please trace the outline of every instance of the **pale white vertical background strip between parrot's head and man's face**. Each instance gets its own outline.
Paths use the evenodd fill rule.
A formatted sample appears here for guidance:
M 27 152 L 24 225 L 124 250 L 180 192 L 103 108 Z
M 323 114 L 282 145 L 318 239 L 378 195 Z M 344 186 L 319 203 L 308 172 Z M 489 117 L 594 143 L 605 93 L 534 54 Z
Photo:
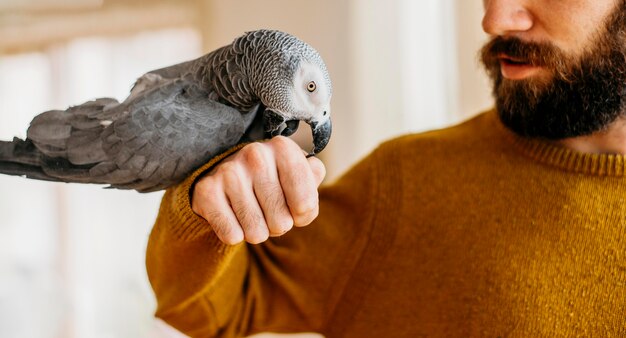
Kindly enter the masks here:
M 351 144 L 348 161 L 399 134 L 449 125 L 458 103 L 452 0 L 352 3 L 348 114 L 356 128 L 337 135 Z

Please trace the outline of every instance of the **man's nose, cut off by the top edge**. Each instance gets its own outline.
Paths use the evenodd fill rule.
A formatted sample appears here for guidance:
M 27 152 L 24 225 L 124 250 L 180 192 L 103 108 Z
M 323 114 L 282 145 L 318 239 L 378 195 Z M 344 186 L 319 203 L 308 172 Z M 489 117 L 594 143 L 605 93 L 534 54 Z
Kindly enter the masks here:
M 523 0 L 484 0 L 483 30 L 490 35 L 515 35 L 532 28 L 533 17 Z

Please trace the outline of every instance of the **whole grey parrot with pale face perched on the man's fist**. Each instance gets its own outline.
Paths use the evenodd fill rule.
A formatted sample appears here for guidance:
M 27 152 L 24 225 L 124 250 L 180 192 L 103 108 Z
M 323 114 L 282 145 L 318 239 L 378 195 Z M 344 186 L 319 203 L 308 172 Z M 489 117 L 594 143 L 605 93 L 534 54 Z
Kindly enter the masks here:
M 242 142 L 312 128 L 331 134 L 320 55 L 273 30 L 245 33 L 198 59 L 140 77 L 126 100 L 100 98 L 36 116 L 27 138 L 0 142 L 0 173 L 150 192 L 182 181 Z

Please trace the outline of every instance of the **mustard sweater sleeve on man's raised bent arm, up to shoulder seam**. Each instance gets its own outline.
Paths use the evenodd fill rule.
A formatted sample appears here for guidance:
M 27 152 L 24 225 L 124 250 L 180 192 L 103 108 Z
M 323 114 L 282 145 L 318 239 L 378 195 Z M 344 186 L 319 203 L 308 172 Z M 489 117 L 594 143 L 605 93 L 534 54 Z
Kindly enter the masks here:
M 190 187 L 213 163 L 166 191 L 146 258 L 156 316 L 192 337 L 324 332 L 367 247 L 374 158 L 320 189 L 311 225 L 260 245 L 223 244 L 191 210 Z

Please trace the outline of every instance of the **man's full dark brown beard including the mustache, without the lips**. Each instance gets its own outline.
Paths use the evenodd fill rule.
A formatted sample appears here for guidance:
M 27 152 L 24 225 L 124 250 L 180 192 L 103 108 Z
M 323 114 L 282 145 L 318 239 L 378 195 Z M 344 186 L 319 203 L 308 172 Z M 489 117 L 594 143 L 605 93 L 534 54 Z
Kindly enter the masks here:
M 626 1 L 582 55 L 571 57 L 550 43 L 497 37 L 481 51 L 493 81 L 502 122 L 529 137 L 563 139 L 605 130 L 624 116 L 626 97 Z M 499 55 L 550 71 L 550 77 L 508 80 Z

